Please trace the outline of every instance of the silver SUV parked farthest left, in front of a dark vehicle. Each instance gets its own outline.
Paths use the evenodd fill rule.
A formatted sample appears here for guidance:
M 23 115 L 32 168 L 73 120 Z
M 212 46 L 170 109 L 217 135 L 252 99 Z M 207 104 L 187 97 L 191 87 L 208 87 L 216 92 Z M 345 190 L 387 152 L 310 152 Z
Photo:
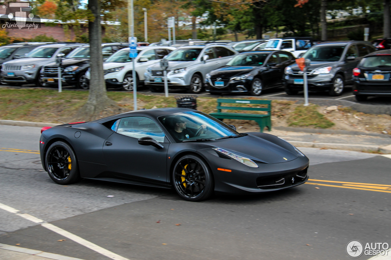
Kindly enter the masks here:
M 57 55 L 65 57 L 69 52 L 82 44 L 43 45 L 30 51 L 23 59 L 11 60 L 2 64 L 1 75 L 5 83 L 13 85 L 34 83 L 42 87 L 39 71 L 56 60 Z

